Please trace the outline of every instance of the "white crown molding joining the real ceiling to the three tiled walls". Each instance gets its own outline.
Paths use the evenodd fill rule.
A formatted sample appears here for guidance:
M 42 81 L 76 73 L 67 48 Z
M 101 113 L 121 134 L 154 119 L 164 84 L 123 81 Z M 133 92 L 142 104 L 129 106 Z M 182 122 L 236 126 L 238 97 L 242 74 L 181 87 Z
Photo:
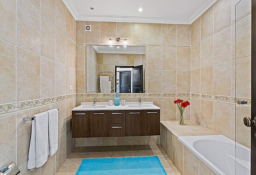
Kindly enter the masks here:
M 163 24 L 192 24 L 217 0 L 210 0 L 204 3 L 189 19 L 184 18 L 158 18 L 158 17 L 129 17 L 129 16 L 106 16 L 78 14 L 71 0 L 62 0 L 75 20 L 98 21 L 98 22 L 134 22 L 134 23 L 163 23 Z

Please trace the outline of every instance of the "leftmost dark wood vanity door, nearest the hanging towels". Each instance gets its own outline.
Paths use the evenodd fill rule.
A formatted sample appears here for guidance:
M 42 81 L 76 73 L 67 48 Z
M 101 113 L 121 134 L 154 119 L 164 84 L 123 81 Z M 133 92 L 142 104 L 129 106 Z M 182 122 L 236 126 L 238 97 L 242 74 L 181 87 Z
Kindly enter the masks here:
M 90 111 L 72 111 L 72 138 L 90 137 Z

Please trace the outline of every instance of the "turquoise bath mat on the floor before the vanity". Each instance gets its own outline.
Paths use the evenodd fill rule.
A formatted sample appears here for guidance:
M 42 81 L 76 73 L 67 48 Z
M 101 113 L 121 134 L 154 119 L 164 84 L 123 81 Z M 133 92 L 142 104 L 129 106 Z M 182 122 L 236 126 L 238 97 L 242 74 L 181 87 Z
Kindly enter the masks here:
M 157 156 L 83 159 L 76 175 L 167 175 Z

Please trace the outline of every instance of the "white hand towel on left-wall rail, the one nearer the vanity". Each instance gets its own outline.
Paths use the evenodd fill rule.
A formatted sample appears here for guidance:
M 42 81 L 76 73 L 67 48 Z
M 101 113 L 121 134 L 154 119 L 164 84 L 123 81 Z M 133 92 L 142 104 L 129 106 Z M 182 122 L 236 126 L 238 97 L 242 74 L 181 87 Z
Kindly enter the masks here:
M 52 156 L 58 150 L 58 109 L 48 110 L 49 147 Z

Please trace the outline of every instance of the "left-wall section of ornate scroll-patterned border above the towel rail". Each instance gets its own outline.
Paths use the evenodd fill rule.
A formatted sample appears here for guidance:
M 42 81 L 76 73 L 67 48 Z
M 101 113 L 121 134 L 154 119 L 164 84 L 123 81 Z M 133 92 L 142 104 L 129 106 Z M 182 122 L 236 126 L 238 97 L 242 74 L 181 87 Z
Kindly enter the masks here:
M 76 98 L 75 94 L 63 95 L 63 96 L 57 96 L 57 97 L 51 97 L 51 98 L 36 99 L 36 100 L 28 100 L 28 101 L 22 101 L 22 102 L 0 104 L 0 117 L 6 116 L 6 115 L 12 115 L 14 113 L 18 113 L 20 111 L 24 111 L 29 108 L 41 107 L 43 105 L 49 105 L 51 103 L 70 100 L 73 98 Z

